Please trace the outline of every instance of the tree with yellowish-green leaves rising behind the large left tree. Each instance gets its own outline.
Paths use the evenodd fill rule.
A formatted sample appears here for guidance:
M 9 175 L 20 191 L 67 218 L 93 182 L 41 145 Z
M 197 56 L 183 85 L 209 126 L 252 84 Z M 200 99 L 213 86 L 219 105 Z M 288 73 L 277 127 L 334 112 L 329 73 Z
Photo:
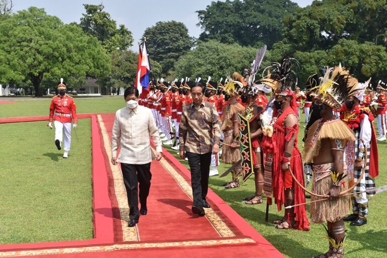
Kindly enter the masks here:
M 133 45 L 132 32 L 127 30 L 124 25 L 119 25 L 111 19 L 110 14 L 103 11 L 105 8 L 100 5 L 83 5 L 86 14 L 82 14 L 80 26 L 83 31 L 95 36 L 108 52 L 127 50 Z

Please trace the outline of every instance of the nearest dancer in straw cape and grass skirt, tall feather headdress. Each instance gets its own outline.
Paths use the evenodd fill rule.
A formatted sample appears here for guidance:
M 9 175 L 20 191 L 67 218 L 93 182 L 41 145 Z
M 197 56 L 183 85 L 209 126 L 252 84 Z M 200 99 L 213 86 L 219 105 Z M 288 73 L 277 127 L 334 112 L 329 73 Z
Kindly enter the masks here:
M 322 101 L 321 119 L 310 126 L 304 145 L 304 160 L 313 160 L 312 192 L 329 195 L 329 199 L 310 204 L 310 218 L 314 223 L 327 222 L 329 250 L 314 258 L 344 257 L 345 227 L 343 217 L 348 214 L 349 197 L 340 197 L 340 192 L 349 187 L 344 168 L 344 149 L 347 142 L 355 141 L 352 130 L 340 119 L 336 119 L 333 108 L 340 110 L 346 96 L 357 80 L 343 72 L 340 67 L 328 68 L 318 90 Z M 312 196 L 312 201 L 321 198 Z

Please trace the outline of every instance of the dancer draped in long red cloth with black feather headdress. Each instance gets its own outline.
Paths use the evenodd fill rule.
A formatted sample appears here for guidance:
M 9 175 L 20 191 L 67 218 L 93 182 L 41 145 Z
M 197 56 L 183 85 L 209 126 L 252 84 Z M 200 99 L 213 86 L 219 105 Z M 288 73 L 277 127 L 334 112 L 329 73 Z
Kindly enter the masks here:
M 270 77 L 262 79 L 264 84 L 275 90 L 273 118 L 269 125 L 263 127 L 262 147 L 266 154 L 265 175 L 268 175 L 265 176 L 265 193 L 271 204 L 273 192 L 278 211 L 284 204 L 290 206 L 305 202 L 302 188 L 294 182 L 289 171 L 292 170 L 296 179 L 304 183 L 301 154 L 297 148 L 297 105 L 291 88 L 295 81 L 295 73 L 291 71 L 292 61 L 284 58 L 281 63 L 272 63 Z M 305 205 L 286 209 L 284 217 L 273 223 L 278 229 L 309 230 Z

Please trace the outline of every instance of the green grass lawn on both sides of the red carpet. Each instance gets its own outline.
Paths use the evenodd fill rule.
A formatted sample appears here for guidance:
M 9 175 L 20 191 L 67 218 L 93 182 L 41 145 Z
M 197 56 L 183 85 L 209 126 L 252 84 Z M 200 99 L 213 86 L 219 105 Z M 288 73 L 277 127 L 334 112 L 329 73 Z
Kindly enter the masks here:
M 122 96 L 75 101 L 79 113 L 115 112 L 124 106 Z M 49 103 L 47 99 L 0 104 L 0 116 L 48 114 Z M 80 143 L 73 137 L 68 160 L 63 160 L 55 149 L 51 142 L 53 130 L 48 130 L 45 124 L 43 121 L 0 124 L 0 243 L 92 237 L 90 121 L 80 120 L 77 128 Z M 377 186 L 387 184 L 386 144 L 378 144 L 380 175 Z M 167 150 L 177 157 L 176 151 Z M 188 166 L 187 162 L 182 163 Z M 71 164 L 71 169 L 63 168 L 64 164 Z M 222 173 L 227 168 L 220 165 L 218 169 Z M 275 229 L 272 224 L 265 223 L 266 204 L 250 206 L 242 203 L 242 198 L 254 192 L 253 178 L 236 189 L 221 187 L 230 177 L 211 177 L 210 187 L 287 257 L 311 257 L 327 250 L 328 240 L 321 225 L 311 225 L 308 232 Z M 349 227 L 347 224 L 346 257 L 386 257 L 387 226 L 383 214 L 387 193 L 377 194 L 369 206 L 367 225 Z M 277 212 L 275 206 L 270 207 L 269 221 L 282 216 L 283 211 Z

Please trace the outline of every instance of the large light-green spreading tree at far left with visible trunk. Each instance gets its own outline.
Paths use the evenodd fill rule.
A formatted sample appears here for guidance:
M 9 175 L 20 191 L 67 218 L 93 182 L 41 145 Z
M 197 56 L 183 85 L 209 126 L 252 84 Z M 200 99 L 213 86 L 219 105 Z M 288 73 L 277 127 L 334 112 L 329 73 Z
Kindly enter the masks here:
M 0 81 L 30 81 L 35 96 L 42 95 L 44 77 L 69 77 L 84 82 L 86 76 L 109 72 L 106 50 L 95 37 L 76 25 L 63 25 L 44 9 L 30 7 L 0 21 Z

